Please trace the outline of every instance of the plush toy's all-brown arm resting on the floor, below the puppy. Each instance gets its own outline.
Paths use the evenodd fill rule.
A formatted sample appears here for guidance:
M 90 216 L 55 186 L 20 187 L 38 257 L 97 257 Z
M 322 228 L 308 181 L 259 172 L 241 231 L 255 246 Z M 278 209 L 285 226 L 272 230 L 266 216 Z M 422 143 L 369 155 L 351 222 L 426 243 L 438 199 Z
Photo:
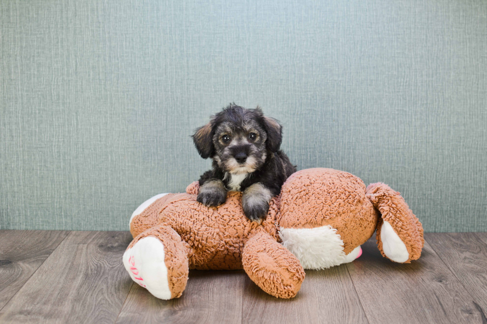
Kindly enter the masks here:
M 247 241 L 242 263 L 257 286 L 279 298 L 296 296 L 305 278 L 298 258 L 266 233 L 257 233 Z

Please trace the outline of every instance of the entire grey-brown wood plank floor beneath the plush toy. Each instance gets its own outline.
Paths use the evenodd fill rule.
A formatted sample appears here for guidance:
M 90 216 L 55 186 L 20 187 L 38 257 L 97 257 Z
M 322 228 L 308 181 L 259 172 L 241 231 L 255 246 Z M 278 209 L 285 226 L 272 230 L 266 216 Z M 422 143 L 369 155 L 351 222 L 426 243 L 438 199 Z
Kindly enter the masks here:
M 0 231 L 0 323 L 487 324 L 487 233 L 431 233 L 419 260 L 384 259 L 375 241 L 349 264 L 306 271 L 276 299 L 243 271 L 191 271 L 179 299 L 134 284 L 128 232 Z

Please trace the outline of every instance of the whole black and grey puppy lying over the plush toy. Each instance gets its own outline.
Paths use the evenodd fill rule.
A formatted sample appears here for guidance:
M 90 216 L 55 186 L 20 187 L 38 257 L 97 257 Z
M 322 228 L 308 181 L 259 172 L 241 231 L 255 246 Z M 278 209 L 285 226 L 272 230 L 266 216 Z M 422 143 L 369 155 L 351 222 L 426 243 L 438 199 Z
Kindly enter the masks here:
M 207 206 L 224 203 L 227 191 L 242 191 L 243 212 L 248 219 L 260 222 L 267 215 L 270 199 L 296 172 L 279 149 L 281 125 L 264 116 L 259 107 L 245 109 L 231 104 L 192 137 L 201 157 L 213 159 L 213 169 L 199 180 L 197 200 Z

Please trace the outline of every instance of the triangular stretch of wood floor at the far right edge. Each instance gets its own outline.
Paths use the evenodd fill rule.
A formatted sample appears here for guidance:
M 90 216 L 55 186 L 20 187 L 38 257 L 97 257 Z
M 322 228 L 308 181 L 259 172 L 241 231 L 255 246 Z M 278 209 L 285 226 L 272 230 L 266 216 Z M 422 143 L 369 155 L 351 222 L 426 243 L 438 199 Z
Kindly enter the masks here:
M 427 233 L 425 239 L 474 297 L 487 323 L 487 233 Z

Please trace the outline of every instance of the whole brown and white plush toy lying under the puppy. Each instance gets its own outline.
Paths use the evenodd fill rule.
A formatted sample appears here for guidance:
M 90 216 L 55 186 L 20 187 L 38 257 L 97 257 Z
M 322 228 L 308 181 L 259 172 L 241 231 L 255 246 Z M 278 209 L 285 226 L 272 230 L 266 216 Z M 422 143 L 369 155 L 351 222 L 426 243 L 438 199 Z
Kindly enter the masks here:
M 343 171 L 294 173 L 260 224 L 244 216 L 240 192 L 218 207 L 196 201 L 197 182 L 186 192 L 152 197 L 130 219 L 134 240 L 123 263 L 161 299 L 181 296 L 189 269 L 244 269 L 265 292 L 291 298 L 303 268 L 353 261 L 376 230 L 382 255 L 396 262 L 418 259 L 424 243 L 421 223 L 399 193 L 382 183 L 365 188 Z

